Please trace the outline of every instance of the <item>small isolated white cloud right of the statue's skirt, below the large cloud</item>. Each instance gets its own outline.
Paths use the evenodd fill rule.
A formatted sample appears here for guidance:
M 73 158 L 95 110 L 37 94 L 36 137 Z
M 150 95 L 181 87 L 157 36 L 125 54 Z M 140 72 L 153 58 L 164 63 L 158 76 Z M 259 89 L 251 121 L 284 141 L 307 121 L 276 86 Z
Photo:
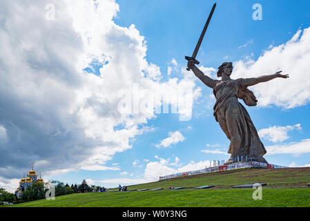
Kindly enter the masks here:
M 289 139 L 288 131 L 301 130 L 300 124 L 289 126 L 271 126 L 258 131 L 260 137 L 265 138 L 273 143 L 282 142 Z

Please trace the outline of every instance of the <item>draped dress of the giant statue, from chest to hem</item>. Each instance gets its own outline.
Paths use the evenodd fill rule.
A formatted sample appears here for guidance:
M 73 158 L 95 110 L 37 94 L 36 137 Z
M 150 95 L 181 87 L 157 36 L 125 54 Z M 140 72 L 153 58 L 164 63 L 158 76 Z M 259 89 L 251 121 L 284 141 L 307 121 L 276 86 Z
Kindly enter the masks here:
M 229 79 L 228 81 L 215 80 L 213 94 L 216 103 L 213 107 L 214 116 L 219 122 L 227 138 L 231 141 L 228 153 L 231 158 L 226 162 L 231 163 L 232 157 L 243 156 L 246 159 L 267 162 L 262 157 L 267 151 L 258 137 L 258 131 L 246 111 L 238 102 L 238 92 L 246 89 L 246 79 Z

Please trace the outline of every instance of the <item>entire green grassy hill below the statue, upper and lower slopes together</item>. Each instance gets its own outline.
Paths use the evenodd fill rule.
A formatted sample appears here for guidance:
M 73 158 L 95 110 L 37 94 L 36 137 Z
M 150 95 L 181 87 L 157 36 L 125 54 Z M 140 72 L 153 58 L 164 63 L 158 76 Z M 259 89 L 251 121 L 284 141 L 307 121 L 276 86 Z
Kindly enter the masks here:
M 231 189 L 253 182 L 267 183 L 262 200 L 253 200 L 253 189 Z M 310 168 L 241 169 L 128 186 L 128 190 L 166 189 L 162 191 L 76 193 L 13 206 L 310 206 L 309 182 Z M 189 189 L 208 184 L 215 188 Z M 188 189 L 167 190 L 171 186 Z

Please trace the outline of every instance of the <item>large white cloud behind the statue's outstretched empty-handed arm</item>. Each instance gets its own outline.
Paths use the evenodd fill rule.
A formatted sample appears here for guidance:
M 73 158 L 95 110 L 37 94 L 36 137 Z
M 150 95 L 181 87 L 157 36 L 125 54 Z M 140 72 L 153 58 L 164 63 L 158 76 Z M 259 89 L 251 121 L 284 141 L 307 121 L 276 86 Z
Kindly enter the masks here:
M 264 51 L 257 61 L 236 61 L 232 77 L 258 77 L 282 70 L 288 79 L 277 78 L 251 87 L 258 106 L 275 105 L 283 108 L 302 106 L 310 101 L 310 28 L 298 30 L 287 43 Z

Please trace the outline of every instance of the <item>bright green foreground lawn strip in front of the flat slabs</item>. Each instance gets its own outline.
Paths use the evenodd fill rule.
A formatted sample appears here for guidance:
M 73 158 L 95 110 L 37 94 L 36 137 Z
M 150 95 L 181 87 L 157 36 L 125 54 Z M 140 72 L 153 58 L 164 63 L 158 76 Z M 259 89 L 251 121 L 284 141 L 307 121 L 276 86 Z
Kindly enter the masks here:
M 55 200 L 37 200 L 13 206 L 310 206 L 310 189 L 263 189 L 253 200 L 253 189 L 183 189 L 119 193 L 75 193 Z

